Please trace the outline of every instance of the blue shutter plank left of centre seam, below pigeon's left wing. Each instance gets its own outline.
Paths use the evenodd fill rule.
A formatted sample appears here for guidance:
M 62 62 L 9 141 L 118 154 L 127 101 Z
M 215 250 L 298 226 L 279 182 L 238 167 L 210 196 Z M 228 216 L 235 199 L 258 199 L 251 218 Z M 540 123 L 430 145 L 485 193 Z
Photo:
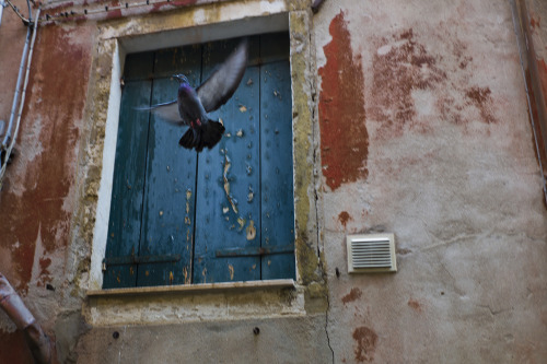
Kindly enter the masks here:
M 178 83 L 154 80 L 152 103 L 176 97 Z M 196 155 L 178 145 L 186 131 L 152 116 L 139 255 L 179 254 L 176 263 L 140 265 L 138 285 L 190 282 Z

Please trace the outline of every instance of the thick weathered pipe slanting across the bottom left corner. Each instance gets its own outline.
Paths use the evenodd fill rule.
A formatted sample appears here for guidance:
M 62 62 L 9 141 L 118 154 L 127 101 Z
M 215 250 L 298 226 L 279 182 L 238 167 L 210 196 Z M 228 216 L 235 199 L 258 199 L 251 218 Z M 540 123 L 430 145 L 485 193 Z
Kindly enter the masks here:
M 25 341 L 34 360 L 40 364 L 51 363 L 53 349 L 49 338 L 2 273 L 0 273 L 0 308 L 8 314 L 18 329 L 24 331 Z

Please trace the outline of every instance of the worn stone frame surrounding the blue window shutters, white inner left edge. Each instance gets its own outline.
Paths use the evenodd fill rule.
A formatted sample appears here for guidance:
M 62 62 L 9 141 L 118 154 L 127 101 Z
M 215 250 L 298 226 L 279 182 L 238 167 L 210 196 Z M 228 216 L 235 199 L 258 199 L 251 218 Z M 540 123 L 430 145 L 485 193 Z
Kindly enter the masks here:
M 299 307 L 306 300 L 316 301 L 316 307 L 323 307 L 325 289 L 319 262 L 319 237 L 317 228 L 317 181 L 315 179 L 318 130 L 315 119 L 315 61 L 312 57 L 310 36 L 311 11 L 306 5 L 288 5 L 284 1 L 269 2 L 270 11 L 265 11 L 260 2 L 251 3 L 233 1 L 222 4 L 196 7 L 194 14 L 202 11 L 203 16 L 181 17 L 176 13 L 166 13 L 153 20 L 141 20 L 144 24 L 154 22 L 153 26 L 135 27 L 135 20 L 106 22 L 100 25 L 98 52 L 94 55 L 90 78 L 89 116 L 90 145 L 83 158 L 91 161 L 84 177 L 82 218 L 82 238 L 92 242 L 91 266 L 86 280 L 88 295 L 109 294 L 102 290 L 102 260 L 105 255 L 108 213 L 110 208 L 112 178 L 114 173 L 117 121 L 120 107 L 120 79 L 124 71 L 125 56 L 128 52 L 183 46 L 187 44 L 258 33 L 289 31 L 291 36 L 291 89 L 292 89 L 292 125 L 293 125 L 293 186 L 294 186 L 294 228 L 296 281 L 281 282 L 257 281 L 245 286 L 261 290 L 268 286 L 291 286 L 295 289 Z M 241 8 L 245 5 L 245 14 Z M 218 7 L 232 8 L 233 11 L 219 12 Z M 291 9 L 289 9 L 291 8 Z M 304 9 L 305 8 L 305 9 Z M 247 11 L 248 10 L 248 11 Z M 208 14 L 221 14 L 208 16 Z M 266 14 L 265 14 L 266 13 Z M 236 15 L 234 15 L 236 14 Z M 178 14 L 181 15 L 181 14 Z M 184 15 L 184 14 L 183 14 Z M 224 17 L 222 17 L 224 16 Z M 170 17 L 171 21 L 165 21 Z M 176 19 L 175 23 L 173 20 Z M 175 25 L 173 25 L 175 24 Z M 256 30 L 256 32 L 253 32 Z M 181 40 L 184 39 L 184 40 Z M 153 47 L 150 47 L 153 44 Z M 150 48 L 147 48 L 150 47 Z M 96 82 L 96 84 L 93 84 Z M 103 108 L 100 108 L 102 106 Z M 98 173 L 96 166 L 100 166 Z M 90 162 L 88 162 L 90 163 Z M 93 172 L 93 173 L 90 173 Z M 88 199 L 88 197 L 90 197 Z M 92 233 L 90 234 L 90 231 Z M 319 269 L 317 269 L 319 267 Z M 201 284 L 193 284 L 184 291 L 196 292 Z M 214 285 L 214 284 L 213 284 Z M 219 287 L 220 284 L 216 284 Z M 241 284 L 224 284 L 220 289 L 241 289 Z M 181 291 L 182 286 L 174 287 Z M 137 291 L 136 291 L 137 290 Z M 129 289 L 136 292 L 158 292 L 147 287 Z M 121 289 L 124 291 L 124 289 Z M 127 291 L 127 290 L 126 290 Z M 127 292 L 129 292 L 127 291 Z M 110 292 L 115 294 L 115 292 Z M 123 293 L 123 292 L 119 292 Z M 282 300 L 286 302 L 286 300 Z M 284 305 L 284 304 L 283 304 Z M 290 304 L 289 304 L 290 305 Z M 287 308 L 287 307 L 286 307 Z M 276 308 L 277 309 L 277 308 Z M 292 309 L 292 308 L 291 308 Z M 290 310 L 290 309 L 289 309 Z M 295 309 L 301 312 L 302 309 Z

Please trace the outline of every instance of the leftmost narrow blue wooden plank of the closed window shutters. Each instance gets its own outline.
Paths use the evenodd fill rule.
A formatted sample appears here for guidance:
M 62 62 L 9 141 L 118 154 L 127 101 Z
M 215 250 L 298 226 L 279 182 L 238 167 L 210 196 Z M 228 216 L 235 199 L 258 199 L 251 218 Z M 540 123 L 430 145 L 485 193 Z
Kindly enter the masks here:
M 150 81 L 127 82 L 124 89 L 106 257 L 138 254 L 149 115 L 137 111 L 133 107 L 150 105 Z M 136 266 L 109 266 L 103 286 L 131 286 L 135 285 L 136 278 Z

